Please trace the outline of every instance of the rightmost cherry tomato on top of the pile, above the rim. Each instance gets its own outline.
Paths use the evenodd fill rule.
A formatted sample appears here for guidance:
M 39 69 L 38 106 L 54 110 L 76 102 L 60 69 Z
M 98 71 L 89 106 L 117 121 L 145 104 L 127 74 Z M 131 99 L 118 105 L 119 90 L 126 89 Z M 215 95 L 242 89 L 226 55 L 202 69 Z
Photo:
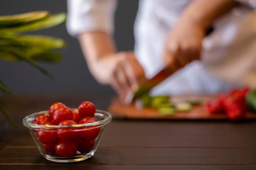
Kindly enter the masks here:
M 79 105 L 78 112 L 81 117 L 93 117 L 96 107 L 92 102 L 85 101 Z

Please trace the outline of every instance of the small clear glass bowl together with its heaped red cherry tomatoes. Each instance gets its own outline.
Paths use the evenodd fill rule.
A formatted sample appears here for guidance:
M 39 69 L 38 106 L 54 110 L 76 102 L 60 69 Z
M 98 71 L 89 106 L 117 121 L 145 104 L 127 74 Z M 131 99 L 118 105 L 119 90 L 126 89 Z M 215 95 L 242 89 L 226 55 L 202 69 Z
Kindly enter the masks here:
M 85 101 L 78 108 L 56 102 L 49 110 L 24 117 L 38 149 L 49 161 L 68 163 L 92 157 L 111 115 Z

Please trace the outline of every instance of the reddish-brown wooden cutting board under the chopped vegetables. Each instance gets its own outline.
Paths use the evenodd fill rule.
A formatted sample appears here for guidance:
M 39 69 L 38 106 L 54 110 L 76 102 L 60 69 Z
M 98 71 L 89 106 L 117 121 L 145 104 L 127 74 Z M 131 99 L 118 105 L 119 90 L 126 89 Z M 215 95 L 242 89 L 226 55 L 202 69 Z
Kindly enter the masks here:
M 205 101 L 211 99 L 213 96 L 177 96 L 172 97 L 173 102 L 186 100 L 200 100 Z M 173 115 L 160 115 L 154 108 L 144 107 L 137 108 L 135 104 L 125 105 L 115 97 L 108 108 L 108 112 L 113 117 L 121 117 L 128 119 L 228 119 L 225 113 L 208 114 L 205 112 L 202 105 L 195 105 L 189 112 L 177 112 Z M 244 119 L 256 119 L 256 113 L 246 113 Z

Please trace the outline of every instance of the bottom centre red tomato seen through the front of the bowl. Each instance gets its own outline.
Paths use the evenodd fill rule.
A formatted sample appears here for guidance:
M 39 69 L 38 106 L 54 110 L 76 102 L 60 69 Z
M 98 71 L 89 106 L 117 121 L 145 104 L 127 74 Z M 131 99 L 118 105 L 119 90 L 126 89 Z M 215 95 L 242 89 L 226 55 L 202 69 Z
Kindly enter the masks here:
M 76 155 L 78 149 L 78 143 L 73 141 L 61 141 L 59 140 L 55 146 L 57 154 L 61 157 L 72 157 Z

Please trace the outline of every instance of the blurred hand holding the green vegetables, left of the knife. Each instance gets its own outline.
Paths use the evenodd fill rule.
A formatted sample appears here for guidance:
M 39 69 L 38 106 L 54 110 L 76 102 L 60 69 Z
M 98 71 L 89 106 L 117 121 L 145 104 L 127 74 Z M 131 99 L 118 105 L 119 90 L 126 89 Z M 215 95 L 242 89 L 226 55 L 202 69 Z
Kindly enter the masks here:
M 92 69 L 97 81 L 115 89 L 121 101 L 132 87 L 145 78 L 144 70 L 133 52 L 119 52 L 101 57 Z

